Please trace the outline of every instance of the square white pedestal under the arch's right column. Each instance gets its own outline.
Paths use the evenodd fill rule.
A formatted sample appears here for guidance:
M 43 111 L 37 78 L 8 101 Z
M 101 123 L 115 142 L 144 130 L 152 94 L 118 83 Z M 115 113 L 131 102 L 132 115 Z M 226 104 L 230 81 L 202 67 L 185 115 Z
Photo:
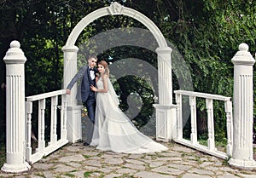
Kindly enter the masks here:
M 156 109 L 156 140 L 169 142 L 175 137 L 177 129 L 176 105 L 154 105 Z

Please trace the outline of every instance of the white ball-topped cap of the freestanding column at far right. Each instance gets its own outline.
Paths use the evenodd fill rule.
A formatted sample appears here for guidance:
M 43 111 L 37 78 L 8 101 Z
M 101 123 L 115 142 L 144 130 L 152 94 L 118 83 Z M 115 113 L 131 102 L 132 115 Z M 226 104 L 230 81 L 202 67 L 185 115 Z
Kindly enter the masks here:
M 247 43 L 241 43 L 239 45 L 239 51 L 236 52 L 236 55 L 231 60 L 234 65 L 253 66 L 255 60 L 253 59 L 253 55 L 248 52 L 248 49 Z

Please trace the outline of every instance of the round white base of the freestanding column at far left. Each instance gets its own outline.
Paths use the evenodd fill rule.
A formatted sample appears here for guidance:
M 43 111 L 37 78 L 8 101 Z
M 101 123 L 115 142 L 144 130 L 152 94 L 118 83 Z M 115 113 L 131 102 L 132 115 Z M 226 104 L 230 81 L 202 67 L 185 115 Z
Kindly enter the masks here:
M 7 173 L 20 173 L 20 172 L 26 172 L 30 168 L 31 166 L 25 162 L 24 164 L 3 164 L 3 167 L 1 170 Z

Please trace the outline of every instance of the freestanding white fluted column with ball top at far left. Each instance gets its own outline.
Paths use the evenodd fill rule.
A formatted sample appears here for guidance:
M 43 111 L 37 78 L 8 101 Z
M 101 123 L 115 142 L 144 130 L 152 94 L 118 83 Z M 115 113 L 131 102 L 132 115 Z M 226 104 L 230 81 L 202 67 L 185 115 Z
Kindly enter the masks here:
M 6 163 L 5 172 L 30 169 L 25 161 L 25 70 L 26 57 L 20 43 L 13 41 L 3 58 L 6 64 Z

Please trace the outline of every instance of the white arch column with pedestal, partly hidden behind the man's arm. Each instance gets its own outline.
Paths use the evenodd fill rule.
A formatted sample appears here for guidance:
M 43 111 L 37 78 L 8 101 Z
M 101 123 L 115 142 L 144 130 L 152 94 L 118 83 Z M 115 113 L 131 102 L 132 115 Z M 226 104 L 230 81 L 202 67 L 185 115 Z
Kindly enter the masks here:
M 77 70 L 77 53 L 79 48 L 76 46 L 63 47 L 64 52 L 64 70 L 63 80 L 64 89 L 67 88 L 68 83 L 72 80 Z M 81 122 L 81 108 L 76 100 L 77 84 L 73 86 L 70 95 L 67 95 L 67 139 L 70 142 L 76 142 L 82 139 L 82 122 Z

